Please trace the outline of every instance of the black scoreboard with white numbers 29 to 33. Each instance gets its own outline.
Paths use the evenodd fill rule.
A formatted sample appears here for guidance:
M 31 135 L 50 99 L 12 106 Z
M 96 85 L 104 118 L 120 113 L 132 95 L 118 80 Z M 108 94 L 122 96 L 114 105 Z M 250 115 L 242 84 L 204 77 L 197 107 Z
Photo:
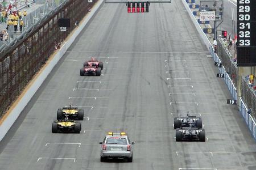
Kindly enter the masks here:
M 256 0 L 237 0 L 237 65 L 256 66 Z

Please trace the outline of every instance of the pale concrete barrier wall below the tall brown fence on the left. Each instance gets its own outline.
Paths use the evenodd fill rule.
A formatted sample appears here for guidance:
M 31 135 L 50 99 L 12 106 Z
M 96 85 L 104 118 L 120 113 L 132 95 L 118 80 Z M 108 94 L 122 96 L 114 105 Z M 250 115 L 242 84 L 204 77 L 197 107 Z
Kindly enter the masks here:
M 3 139 L 3 137 L 5 137 L 7 131 L 14 124 L 19 114 L 26 107 L 28 102 L 34 96 L 34 94 L 39 89 L 39 87 L 44 82 L 44 80 L 47 78 L 49 73 L 51 73 L 53 67 L 56 65 L 57 62 L 59 62 L 60 58 L 65 54 L 65 52 L 67 51 L 69 46 L 71 46 L 73 41 L 75 41 L 76 37 L 85 27 L 85 25 L 88 24 L 90 19 L 92 19 L 93 15 L 96 14 L 97 10 L 100 8 L 103 2 L 104 0 L 99 0 L 93 6 L 92 11 L 86 15 L 85 19 L 82 20 L 82 22 L 80 23 L 79 27 L 75 30 L 75 32 L 73 32 L 72 36 L 68 37 L 68 40 L 64 42 L 63 46 L 57 51 L 57 53 L 55 54 L 55 56 L 53 56 L 51 61 L 47 63 L 47 66 L 43 67 L 43 70 L 40 70 L 40 72 L 36 76 L 36 79 L 31 81 L 31 84 L 28 85 L 29 86 L 28 90 L 22 96 L 22 98 L 18 101 L 18 103 L 15 103 L 15 106 L 11 107 L 11 111 L 9 115 L 5 118 L 5 120 L 0 125 L 0 141 Z

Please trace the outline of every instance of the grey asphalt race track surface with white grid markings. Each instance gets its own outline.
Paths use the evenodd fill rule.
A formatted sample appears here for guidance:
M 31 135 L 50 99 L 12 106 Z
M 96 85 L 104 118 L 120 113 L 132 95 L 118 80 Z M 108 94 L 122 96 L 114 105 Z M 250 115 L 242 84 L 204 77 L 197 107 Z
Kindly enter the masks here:
M 101 7 L 0 143 L 0 169 L 256 169 L 255 142 L 182 2 L 126 10 Z M 102 76 L 80 76 L 90 56 Z M 84 109 L 81 133 L 52 134 L 69 103 Z M 186 111 L 202 117 L 206 142 L 175 142 Z M 129 134 L 133 163 L 100 162 L 108 131 Z

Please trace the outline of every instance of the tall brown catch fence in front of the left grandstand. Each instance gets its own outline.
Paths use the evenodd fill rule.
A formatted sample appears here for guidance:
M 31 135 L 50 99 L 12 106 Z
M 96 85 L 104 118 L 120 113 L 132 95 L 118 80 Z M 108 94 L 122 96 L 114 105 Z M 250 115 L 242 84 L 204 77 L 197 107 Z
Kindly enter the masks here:
M 46 63 L 69 33 L 80 22 L 94 3 L 84 0 L 67 0 L 50 11 L 35 25 L 7 46 L 0 48 L 0 116 L 27 86 L 32 77 Z M 71 27 L 59 31 L 58 19 L 70 18 Z

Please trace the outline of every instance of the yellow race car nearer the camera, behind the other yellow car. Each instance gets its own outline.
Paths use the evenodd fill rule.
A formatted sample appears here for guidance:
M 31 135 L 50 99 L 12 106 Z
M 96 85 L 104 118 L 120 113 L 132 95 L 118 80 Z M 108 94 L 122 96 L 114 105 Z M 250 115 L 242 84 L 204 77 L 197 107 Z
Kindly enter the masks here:
M 81 122 L 68 120 L 67 117 L 65 120 L 57 120 L 52 122 L 52 133 L 58 133 L 58 132 L 80 133 L 81 129 L 82 129 Z

